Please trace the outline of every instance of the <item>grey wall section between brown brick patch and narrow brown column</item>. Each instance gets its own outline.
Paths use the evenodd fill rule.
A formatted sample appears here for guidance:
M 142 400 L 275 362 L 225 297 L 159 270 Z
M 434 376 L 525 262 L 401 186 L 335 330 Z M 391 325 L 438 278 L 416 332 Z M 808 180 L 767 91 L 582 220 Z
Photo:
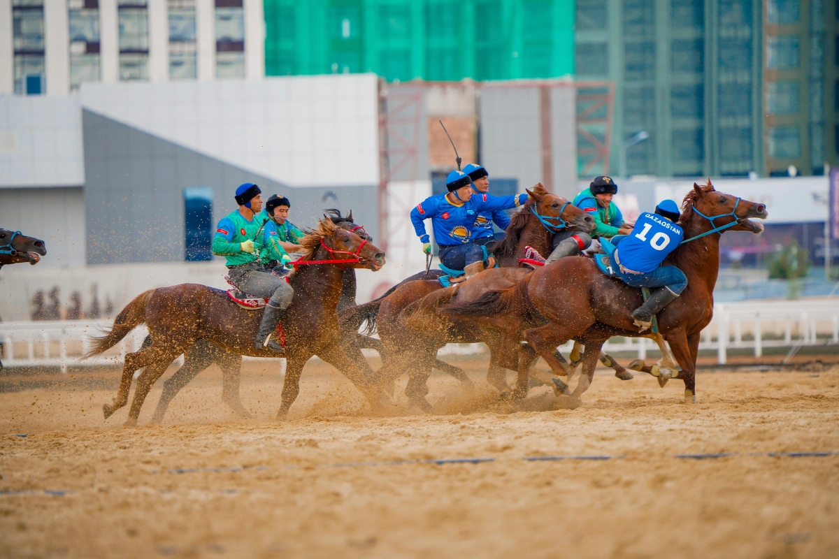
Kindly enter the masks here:
M 481 163 L 490 176 L 519 179 L 524 192 L 542 179 L 539 89 L 482 88 Z

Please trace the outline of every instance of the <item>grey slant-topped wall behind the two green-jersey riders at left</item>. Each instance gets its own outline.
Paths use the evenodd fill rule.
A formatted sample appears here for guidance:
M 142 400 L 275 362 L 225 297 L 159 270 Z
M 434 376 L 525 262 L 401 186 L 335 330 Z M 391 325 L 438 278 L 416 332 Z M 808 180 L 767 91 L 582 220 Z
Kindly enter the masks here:
M 353 210 L 377 235 L 376 186 L 291 188 L 195 153 L 92 111 L 82 114 L 88 264 L 183 261 L 184 194 L 213 189 L 213 221 L 236 209 L 239 184 L 291 200 L 295 225 L 314 225 L 323 208 Z

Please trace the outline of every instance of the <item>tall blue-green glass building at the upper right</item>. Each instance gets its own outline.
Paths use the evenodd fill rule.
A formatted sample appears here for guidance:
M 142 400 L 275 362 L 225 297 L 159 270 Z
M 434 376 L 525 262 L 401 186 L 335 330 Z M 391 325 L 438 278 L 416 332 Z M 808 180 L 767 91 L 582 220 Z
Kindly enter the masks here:
M 833 4 L 578 0 L 576 78 L 617 84 L 616 174 L 638 132 L 649 137 L 628 148 L 630 175 L 822 173 Z

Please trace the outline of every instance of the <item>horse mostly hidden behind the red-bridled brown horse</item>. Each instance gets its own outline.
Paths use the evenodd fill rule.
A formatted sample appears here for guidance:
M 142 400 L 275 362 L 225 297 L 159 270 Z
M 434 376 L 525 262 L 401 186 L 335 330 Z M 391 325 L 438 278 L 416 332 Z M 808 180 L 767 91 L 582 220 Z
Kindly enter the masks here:
M 362 225 L 357 225 L 352 219 L 352 210 L 348 215 L 341 215 L 340 210 L 334 208 L 324 210 L 325 217 L 332 221 L 341 229 L 352 231 L 357 236 L 360 236 L 364 241 L 373 242 L 373 237 L 367 235 Z M 356 306 L 356 270 L 355 268 L 345 268 L 341 276 L 341 297 L 338 299 L 337 312 L 347 310 Z M 345 353 L 354 354 L 353 348 L 376 349 L 380 353 L 382 351 L 382 343 L 375 338 L 363 336 L 355 332 L 349 332 L 346 329 L 341 329 L 341 346 Z M 140 349 L 145 349 L 151 345 L 151 336 L 146 336 L 143 340 L 143 346 Z M 210 365 L 215 363 L 221 369 L 221 401 L 224 401 L 227 406 L 242 419 L 250 419 L 251 414 L 242 406 L 242 400 L 239 396 L 239 385 L 242 377 L 242 355 L 238 355 L 223 349 L 216 344 L 211 344 L 206 339 L 199 339 L 184 355 L 184 365 L 180 369 L 164 381 L 163 392 L 160 394 L 160 399 L 157 406 L 154 408 L 154 415 L 152 417 L 153 423 L 160 423 L 163 421 L 166 410 L 169 408 L 169 403 L 177 396 L 181 388 L 189 384 L 190 380 L 194 379 L 201 371 L 206 370 Z

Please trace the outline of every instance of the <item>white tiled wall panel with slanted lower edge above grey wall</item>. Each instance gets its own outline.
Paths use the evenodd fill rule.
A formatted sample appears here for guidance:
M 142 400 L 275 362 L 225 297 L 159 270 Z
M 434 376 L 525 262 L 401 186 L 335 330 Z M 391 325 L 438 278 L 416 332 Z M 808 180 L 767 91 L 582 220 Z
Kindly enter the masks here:
M 89 84 L 86 109 L 292 186 L 378 184 L 377 78 Z

